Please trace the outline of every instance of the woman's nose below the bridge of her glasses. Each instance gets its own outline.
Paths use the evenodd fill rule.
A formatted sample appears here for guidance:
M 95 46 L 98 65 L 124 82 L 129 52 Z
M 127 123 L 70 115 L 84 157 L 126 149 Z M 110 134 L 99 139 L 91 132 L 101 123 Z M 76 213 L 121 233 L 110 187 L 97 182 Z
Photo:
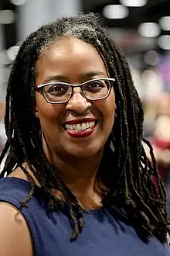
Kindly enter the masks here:
M 80 115 L 85 112 L 90 106 L 91 103 L 88 102 L 87 99 L 82 95 L 81 89 L 74 88 L 73 95 L 66 105 L 66 110 L 76 112 Z

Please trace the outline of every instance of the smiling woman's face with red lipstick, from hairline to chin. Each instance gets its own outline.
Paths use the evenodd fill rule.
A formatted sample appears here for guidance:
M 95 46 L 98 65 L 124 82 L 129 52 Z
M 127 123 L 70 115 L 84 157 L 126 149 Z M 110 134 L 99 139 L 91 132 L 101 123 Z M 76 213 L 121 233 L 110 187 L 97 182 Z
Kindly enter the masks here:
M 93 46 L 72 37 L 53 43 L 36 64 L 36 86 L 54 81 L 77 85 L 93 78 L 108 78 L 104 61 Z M 53 154 L 76 157 L 97 154 L 112 130 L 114 111 L 113 88 L 107 99 L 94 102 L 85 99 L 80 88 L 74 88 L 70 101 L 62 104 L 50 104 L 36 92 L 36 116 L 41 125 L 42 144 L 45 151 Z M 83 136 L 74 126 L 93 121 L 95 126 Z M 72 132 L 76 136 L 70 132 L 70 127 L 74 127 Z

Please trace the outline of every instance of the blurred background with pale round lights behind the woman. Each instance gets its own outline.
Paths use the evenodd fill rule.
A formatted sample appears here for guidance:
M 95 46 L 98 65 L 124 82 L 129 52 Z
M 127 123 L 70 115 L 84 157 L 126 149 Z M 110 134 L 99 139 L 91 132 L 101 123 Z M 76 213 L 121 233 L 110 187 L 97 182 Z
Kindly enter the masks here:
M 0 151 L 6 86 L 22 40 L 42 24 L 80 11 L 98 13 L 128 58 L 170 213 L 170 0 L 0 0 Z

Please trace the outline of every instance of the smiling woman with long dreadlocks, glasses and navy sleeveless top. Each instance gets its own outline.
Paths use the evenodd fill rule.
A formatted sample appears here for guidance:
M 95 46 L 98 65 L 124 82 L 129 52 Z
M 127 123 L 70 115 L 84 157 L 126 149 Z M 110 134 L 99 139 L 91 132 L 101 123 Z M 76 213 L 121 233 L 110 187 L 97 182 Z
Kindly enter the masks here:
M 1 256 L 170 255 L 143 118 L 128 64 L 93 14 L 29 35 L 8 81 Z

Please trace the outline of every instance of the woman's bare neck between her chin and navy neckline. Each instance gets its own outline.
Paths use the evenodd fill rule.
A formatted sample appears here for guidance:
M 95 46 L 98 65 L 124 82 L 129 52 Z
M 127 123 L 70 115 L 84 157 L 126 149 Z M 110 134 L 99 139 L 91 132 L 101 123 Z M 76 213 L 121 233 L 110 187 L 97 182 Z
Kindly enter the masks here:
M 50 164 L 56 168 L 60 180 L 70 189 L 80 204 L 86 209 L 101 207 L 104 185 L 97 180 L 97 169 L 101 152 L 89 157 L 75 157 L 66 154 L 46 152 Z

